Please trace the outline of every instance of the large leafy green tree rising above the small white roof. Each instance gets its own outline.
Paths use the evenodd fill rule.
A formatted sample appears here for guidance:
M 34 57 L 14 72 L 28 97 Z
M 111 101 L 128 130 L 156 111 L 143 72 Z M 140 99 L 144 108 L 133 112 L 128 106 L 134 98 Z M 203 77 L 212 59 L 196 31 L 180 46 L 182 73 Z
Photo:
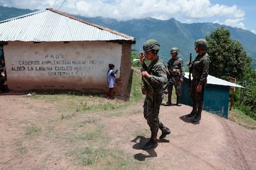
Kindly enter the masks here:
M 252 61 L 239 40 L 230 38 L 229 30 L 221 26 L 206 36 L 208 42 L 208 54 L 210 55 L 209 74 L 228 80 L 231 76 L 237 81 L 244 81 L 249 73 L 249 65 Z

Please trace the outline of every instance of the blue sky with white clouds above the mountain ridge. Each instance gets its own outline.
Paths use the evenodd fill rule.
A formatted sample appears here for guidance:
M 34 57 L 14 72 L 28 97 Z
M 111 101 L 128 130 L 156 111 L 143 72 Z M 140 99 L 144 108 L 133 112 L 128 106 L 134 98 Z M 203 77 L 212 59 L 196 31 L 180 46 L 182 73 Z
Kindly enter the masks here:
M 72 15 L 116 20 L 175 18 L 182 23 L 220 23 L 256 34 L 254 0 L 0 0 L 0 6 L 31 10 L 51 7 Z

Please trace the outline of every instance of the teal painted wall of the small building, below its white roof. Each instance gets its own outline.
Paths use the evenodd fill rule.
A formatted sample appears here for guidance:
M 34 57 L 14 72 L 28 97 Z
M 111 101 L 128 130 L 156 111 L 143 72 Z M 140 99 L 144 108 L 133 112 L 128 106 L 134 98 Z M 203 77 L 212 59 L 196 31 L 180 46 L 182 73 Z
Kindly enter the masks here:
M 192 106 L 189 95 L 189 79 L 181 85 L 181 103 Z M 203 95 L 203 110 L 228 118 L 229 86 L 207 84 Z

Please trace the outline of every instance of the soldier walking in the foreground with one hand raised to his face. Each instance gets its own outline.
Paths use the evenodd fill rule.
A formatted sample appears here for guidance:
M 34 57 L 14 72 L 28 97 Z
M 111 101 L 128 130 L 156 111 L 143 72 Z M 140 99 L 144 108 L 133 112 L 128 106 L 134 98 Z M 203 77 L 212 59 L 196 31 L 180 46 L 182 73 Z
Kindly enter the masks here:
M 147 144 L 142 146 L 143 150 L 156 147 L 156 137 L 158 128 L 161 129 L 162 134 L 160 139 L 164 139 L 171 130 L 165 127 L 163 123 L 159 121 L 158 114 L 160 105 L 163 100 L 163 84 L 167 83 L 167 76 L 165 66 L 162 60 L 158 57 L 158 51 L 160 44 L 154 39 L 149 39 L 143 45 L 143 52 L 140 52 L 140 62 L 142 63 L 142 77 L 147 79 L 148 83 L 152 87 L 153 91 L 149 92 L 145 97 L 143 105 L 144 118 L 147 119 L 148 126 L 150 126 L 151 138 Z M 147 66 L 145 59 L 150 60 L 151 63 Z

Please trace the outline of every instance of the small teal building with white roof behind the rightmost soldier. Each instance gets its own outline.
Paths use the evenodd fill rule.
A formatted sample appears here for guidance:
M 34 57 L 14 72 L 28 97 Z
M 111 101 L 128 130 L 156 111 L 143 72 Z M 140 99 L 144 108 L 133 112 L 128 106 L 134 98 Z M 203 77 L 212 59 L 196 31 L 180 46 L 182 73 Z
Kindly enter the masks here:
M 236 83 L 208 75 L 203 94 L 203 110 L 228 118 L 229 91 L 232 87 L 244 88 Z M 189 93 L 189 73 L 186 72 L 181 85 L 181 103 L 192 106 Z

